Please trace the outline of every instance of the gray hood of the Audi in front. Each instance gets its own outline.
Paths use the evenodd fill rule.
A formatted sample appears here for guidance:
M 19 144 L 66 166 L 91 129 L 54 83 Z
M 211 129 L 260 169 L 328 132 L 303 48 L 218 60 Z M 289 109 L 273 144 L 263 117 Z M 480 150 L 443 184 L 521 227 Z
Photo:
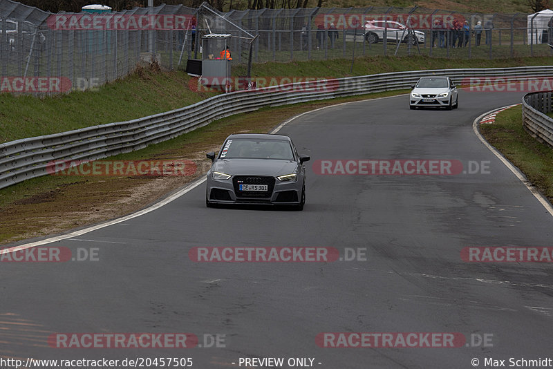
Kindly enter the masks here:
M 294 173 L 297 162 L 272 159 L 219 159 L 213 166 L 214 171 L 231 176 L 283 176 Z

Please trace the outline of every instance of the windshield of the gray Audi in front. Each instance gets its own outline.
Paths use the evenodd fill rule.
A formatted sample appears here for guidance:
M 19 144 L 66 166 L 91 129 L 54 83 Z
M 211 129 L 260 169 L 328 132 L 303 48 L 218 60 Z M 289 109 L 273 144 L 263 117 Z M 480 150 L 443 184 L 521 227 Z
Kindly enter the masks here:
M 220 158 L 293 160 L 294 155 L 290 142 L 285 140 L 238 138 L 225 142 Z

